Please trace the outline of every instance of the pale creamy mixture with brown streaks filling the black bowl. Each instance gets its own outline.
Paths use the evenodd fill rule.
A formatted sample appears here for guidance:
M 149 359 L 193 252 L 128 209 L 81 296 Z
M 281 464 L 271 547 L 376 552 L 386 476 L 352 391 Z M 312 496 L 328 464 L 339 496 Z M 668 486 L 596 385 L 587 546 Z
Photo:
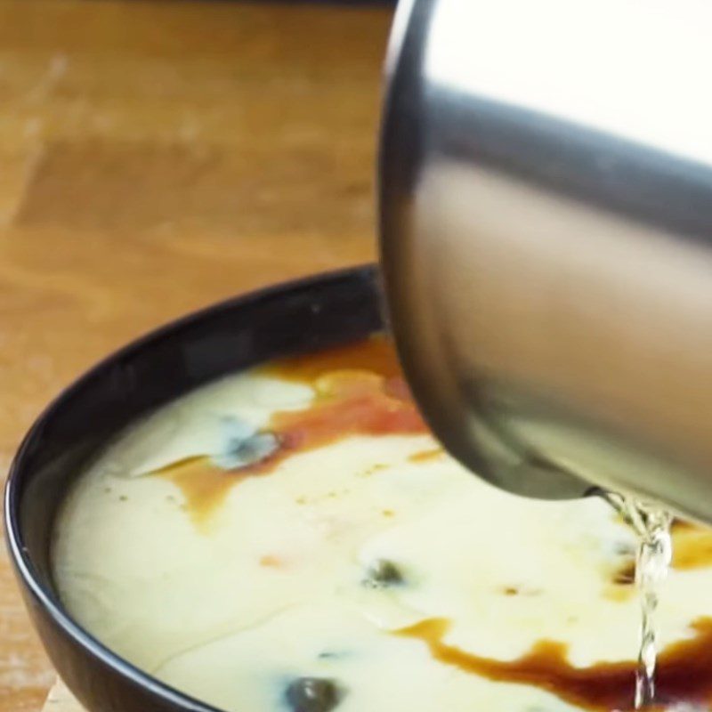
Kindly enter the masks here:
M 659 708 L 712 703 L 712 531 L 676 523 Z M 109 649 L 235 712 L 634 706 L 635 533 L 465 471 L 380 336 L 208 384 L 122 433 L 53 568 Z M 692 706 L 692 707 L 691 707 Z

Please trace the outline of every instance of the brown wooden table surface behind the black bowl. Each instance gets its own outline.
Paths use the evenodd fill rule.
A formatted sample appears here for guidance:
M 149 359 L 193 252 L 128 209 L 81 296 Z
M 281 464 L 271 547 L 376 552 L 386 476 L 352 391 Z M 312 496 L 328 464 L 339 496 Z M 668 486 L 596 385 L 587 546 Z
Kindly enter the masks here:
M 374 256 L 390 13 L 0 0 L 0 467 L 147 329 Z M 0 553 L 0 712 L 53 682 Z

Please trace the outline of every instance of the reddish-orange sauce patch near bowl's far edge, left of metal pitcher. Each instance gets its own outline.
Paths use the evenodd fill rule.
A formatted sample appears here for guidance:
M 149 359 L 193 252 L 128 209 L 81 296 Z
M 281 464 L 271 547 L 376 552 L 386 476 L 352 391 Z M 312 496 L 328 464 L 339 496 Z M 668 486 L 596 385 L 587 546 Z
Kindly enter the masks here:
M 258 373 L 310 384 L 316 397 L 306 409 L 272 415 L 267 430 L 277 435 L 279 448 L 255 465 L 226 471 L 208 457 L 191 457 L 154 473 L 182 491 L 197 524 L 206 522 L 239 482 L 272 473 L 297 453 L 355 435 L 429 432 L 384 336 L 278 361 Z

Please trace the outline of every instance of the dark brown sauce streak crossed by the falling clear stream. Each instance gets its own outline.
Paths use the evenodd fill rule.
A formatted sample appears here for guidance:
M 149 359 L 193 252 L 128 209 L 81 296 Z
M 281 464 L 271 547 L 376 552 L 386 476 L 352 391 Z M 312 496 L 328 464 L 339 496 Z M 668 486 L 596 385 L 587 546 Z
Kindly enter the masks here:
M 560 700 L 591 710 L 632 710 L 636 663 L 633 660 L 573 667 L 563 643 L 540 641 L 521 658 L 495 660 L 473 655 L 444 643 L 447 619 L 428 619 L 396 632 L 425 643 L 434 659 L 489 680 L 529 684 L 551 692 Z M 712 701 L 712 619 L 692 624 L 694 635 L 673 643 L 659 655 L 657 700 L 708 704 Z

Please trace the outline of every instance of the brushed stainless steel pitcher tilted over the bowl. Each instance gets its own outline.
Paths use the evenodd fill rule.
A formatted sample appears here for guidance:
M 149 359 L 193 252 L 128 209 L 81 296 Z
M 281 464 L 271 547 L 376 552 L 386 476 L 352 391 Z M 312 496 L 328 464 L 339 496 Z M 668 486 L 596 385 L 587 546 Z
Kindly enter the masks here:
M 506 490 L 712 522 L 712 4 L 410 0 L 380 231 L 406 375 Z

